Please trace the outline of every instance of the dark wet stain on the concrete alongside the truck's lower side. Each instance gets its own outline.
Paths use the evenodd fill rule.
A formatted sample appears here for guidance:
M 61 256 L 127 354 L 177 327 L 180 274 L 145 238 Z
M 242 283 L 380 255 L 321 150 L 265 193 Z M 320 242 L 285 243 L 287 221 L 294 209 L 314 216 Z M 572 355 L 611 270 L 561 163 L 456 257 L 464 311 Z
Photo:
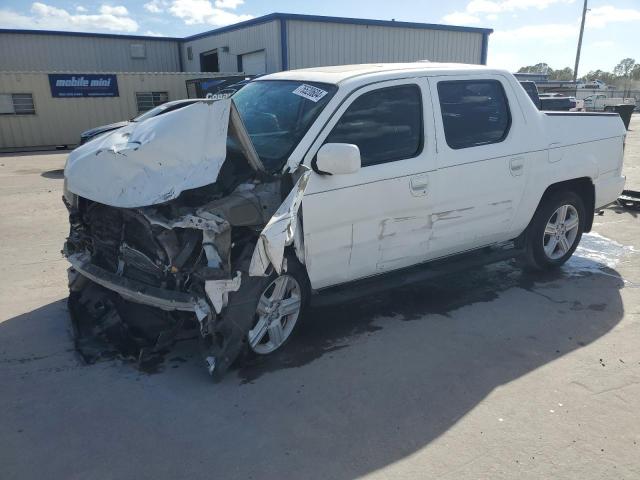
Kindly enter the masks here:
M 592 270 L 582 272 L 578 276 L 587 278 L 598 275 L 598 282 L 611 282 L 611 278 L 618 277 L 611 269 L 602 268 L 600 271 L 608 275 L 609 279 L 600 278 Z M 351 341 L 357 341 L 360 336 L 371 336 L 374 332 L 382 330 L 390 320 L 442 321 L 443 319 L 433 316 L 437 315 L 455 321 L 464 315 L 463 312 L 457 312 L 459 309 L 492 302 L 498 299 L 501 293 L 512 288 L 525 290 L 538 298 L 547 299 L 552 305 L 555 304 L 556 314 L 560 319 L 568 312 L 593 311 L 601 308 L 602 304 L 607 304 L 607 308 L 610 308 L 619 303 L 612 302 L 614 299 L 583 303 L 585 300 L 579 298 L 582 295 L 564 298 L 562 293 L 553 294 L 554 290 L 562 289 L 563 282 L 571 281 L 575 277 L 575 272 L 524 272 L 518 268 L 515 261 L 501 262 L 485 269 L 449 275 L 443 277 L 440 282 L 416 283 L 410 287 L 390 290 L 373 297 L 363 297 L 359 301 L 336 307 L 309 309 L 305 312 L 303 323 L 298 326 L 295 339 L 286 349 L 269 357 L 250 357 L 249 361 L 245 361 L 239 368 L 239 377 L 243 383 L 248 383 L 270 371 L 301 367 L 328 352 L 346 348 Z M 613 281 L 616 282 L 620 283 L 622 280 Z M 618 306 L 621 307 L 621 304 Z M 485 325 L 485 333 L 489 334 L 491 330 L 517 330 L 524 328 L 527 322 L 534 327 L 536 322 L 543 320 L 538 318 L 539 312 L 528 314 L 513 307 L 507 307 L 506 310 L 510 311 L 508 314 L 506 311 L 495 312 L 495 316 Z M 383 321 L 380 322 L 380 319 Z M 486 320 L 482 319 L 483 323 Z M 466 316 L 461 321 L 459 326 L 462 330 L 473 327 L 467 325 Z M 561 345 L 562 348 L 554 349 L 553 353 L 567 352 L 572 341 L 576 345 L 584 345 L 583 341 L 577 339 L 578 336 L 572 337 L 576 338 L 575 341 L 567 337 L 567 341 Z M 542 338 L 537 334 L 530 337 Z M 513 338 L 508 336 L 502 340 L 511 342 Z M 553 344 L 556 345 L 558 340 L 562 339 L 556 339 Z M 441 344 L 439 341 L 433 343 L 436 346 Z M 425 341 L 425 347 L 433 346 L 431 340 Z

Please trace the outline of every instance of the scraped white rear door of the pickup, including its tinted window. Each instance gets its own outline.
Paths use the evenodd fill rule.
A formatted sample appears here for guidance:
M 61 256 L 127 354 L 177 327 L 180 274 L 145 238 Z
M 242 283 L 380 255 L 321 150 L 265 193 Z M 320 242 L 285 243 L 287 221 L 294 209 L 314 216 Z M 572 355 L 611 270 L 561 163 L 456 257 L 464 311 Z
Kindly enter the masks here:
M 438 143 L 431 258 L 509 240 L 531 161 L 526 119 L 500 75 L 432 77 Z

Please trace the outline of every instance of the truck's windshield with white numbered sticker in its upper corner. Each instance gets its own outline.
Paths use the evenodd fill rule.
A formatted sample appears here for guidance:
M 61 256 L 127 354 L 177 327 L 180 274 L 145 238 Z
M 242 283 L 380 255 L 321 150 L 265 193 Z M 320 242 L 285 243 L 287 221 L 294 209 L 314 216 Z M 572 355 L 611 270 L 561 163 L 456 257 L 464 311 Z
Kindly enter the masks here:
M 290 80 L 251 82 L 233 95 L 265 168 L 282 168 L 293 149 L 327 105 L 337 87 Z

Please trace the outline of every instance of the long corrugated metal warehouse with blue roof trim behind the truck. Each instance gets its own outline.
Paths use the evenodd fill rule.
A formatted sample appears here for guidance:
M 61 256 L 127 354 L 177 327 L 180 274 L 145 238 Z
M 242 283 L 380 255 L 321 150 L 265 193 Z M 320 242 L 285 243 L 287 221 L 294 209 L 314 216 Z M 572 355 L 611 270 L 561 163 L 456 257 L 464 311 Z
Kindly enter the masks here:
M 82 130 L 186 98 L 190 79 L 424 59 L 484 64 L 491 32 L 283 13 L 187 38 L 0 29 L 0 150 L 73 145 Z M 95 81 L 115 88 L 61 96 L 52 81 L 61 72 L 68 82 L 103 74 Z

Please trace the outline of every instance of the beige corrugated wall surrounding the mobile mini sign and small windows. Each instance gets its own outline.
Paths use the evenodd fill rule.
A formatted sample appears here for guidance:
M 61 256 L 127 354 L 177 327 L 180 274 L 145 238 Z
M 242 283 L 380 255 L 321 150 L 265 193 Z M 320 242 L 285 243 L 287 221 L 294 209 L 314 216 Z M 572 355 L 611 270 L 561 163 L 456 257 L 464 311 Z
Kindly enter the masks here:
M 119 97 L 53 98 L 45 73 L 0 72 L 0 93 L 31 93 L 36 110 L 35 115 L 0 115 L 0 149 L 75 145 L 84 130 L 138 115 L 136 92 L 168 92 L 169 100 L 187 98 L 185 81 L 203 76 L 184 73 L 117 75 Z

